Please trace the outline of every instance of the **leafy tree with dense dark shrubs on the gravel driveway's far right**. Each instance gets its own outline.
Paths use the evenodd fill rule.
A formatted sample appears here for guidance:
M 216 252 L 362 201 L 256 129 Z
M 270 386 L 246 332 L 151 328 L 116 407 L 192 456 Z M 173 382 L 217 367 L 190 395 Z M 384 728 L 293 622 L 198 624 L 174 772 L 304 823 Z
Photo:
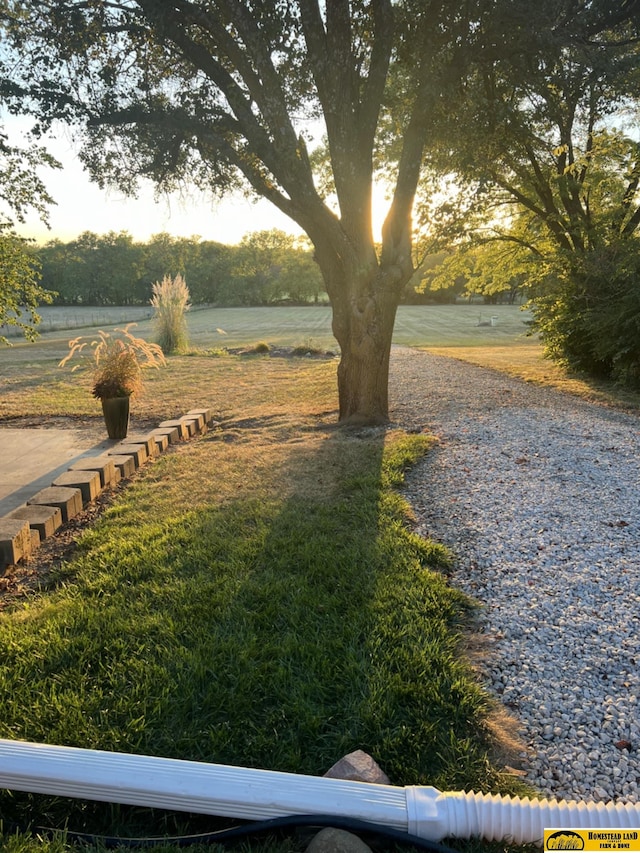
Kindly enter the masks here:
M 477 187 L 474 289 L 526 283 L 549 354 L 640 383 L 640 4 L 512 0 L 484 23 L 440 158 Z M 499 29 L 496 29 L 498 27 Z M 517 48 L 518 43 L 520 49 Z M 446 125 L 445 125 L 446 127 Z

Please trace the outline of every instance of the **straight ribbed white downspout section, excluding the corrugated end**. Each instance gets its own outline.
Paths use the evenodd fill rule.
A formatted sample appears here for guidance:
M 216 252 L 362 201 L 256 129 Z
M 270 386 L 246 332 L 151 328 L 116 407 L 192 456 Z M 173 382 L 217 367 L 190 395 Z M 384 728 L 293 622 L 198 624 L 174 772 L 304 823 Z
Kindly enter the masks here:
M 0 740 L 0 787 L 243 820 L 331 814 L 407 826 L 403 788 Z

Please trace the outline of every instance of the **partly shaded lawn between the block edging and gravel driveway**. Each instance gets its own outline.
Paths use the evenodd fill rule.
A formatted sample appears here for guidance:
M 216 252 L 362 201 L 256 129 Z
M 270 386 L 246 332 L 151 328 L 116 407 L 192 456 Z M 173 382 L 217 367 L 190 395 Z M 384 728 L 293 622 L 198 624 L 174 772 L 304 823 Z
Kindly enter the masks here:
M 0 614 L 0 736 L 312 774 L 361 748 L 394 784 L 516 790 L 462 651 L 472 604 L 397 491 L 431 439 L 336 429 L 335 371 L 198 355 L 151 374 L 134 417 L 210 404 L 220 426 L 147 465 L 46 587 Z M 7 410 L 98 417 L 71 374 L 14 379 Z M 20 793 L 0 814 L 12 853 L 72 844 L 11 821 L 220 825 Z

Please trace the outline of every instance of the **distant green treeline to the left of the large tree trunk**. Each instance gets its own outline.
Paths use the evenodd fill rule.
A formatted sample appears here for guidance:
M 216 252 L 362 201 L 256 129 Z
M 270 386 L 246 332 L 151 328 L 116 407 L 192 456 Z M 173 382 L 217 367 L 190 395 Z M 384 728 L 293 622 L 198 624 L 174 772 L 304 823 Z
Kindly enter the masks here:
M 42 286 L 57 305 L 145 305 L 165 275 L 186 279 L 194 305 L 277 305 L 326 302 L 313 253 L 277 229 L 248 235 L 237 246 L 158 234 L 134 242 L 125 231 L 52 240 L 34 250 Z

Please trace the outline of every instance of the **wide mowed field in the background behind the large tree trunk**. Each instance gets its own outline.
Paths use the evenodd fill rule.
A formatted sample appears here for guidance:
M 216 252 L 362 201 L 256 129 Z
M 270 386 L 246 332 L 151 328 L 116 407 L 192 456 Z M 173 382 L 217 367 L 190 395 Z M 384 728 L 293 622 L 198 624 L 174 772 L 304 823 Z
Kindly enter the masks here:
M 153 322 L 145 318 L 146 314 L 145 307 L 45 306 L 38 341 L 13 339 L 13 346 L 0 349 L 0 419 L 19 414 L 9 399 L 16 383 L 22 389 L 33 387 L 36 393 L 37 387 L 48 383 L 68 382 L 68 372 L 61 371 L 57 364 L 66 355 L 71 338 L 83 335 L 91 339 L 92 328 L 84 327 L 85 323 L 97 323 L 96 328 L 109 330 L 115 325 L 135 322 L 135 333 L 152 340 Z M 527 334 L 530 319 L 528 311 L 513 305 L 401 305 L 393 342 L 500 370 L 588 399 L 640 407 L 639 394 L 571 375 L 545 359 L 536 336 Z M 274 347 L 308 346 L 339 353 L 331 332 L 331 308 L 327 305 L 193 309 L 188 314 L 188 326 L 193 357 L 216 354 L 225 348 L 250 348 L 257 343 Z M 193 367 L 195 379 L 195 364 Z M 45 401 L 36 398 L 33 402 Z M 42 414 L 48 411 L 46 405 L 41 408 Z

